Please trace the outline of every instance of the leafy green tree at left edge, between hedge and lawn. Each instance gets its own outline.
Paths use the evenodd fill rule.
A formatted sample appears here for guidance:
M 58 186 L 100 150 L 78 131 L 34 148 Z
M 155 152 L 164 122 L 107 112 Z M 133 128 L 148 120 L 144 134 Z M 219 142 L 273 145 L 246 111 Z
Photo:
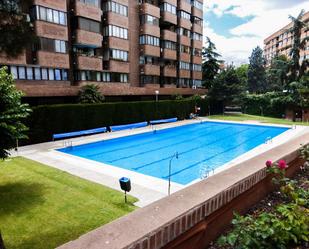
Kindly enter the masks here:
M 9 156 L 8 150 L 15 148 L 16 140 L 27 138 L 27 127 L 23 124 L 29 115 L 27 104 L 21 103 L 22 93 L 14 85 L 13 76 L 7 68 L 0 69 L 0 158 Z

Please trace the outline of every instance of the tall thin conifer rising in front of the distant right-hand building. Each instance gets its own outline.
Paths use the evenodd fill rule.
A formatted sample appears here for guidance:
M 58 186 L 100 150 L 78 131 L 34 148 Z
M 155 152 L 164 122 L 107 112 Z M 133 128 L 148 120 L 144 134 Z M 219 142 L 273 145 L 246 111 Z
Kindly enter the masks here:
M 301 10 L 297 17 L 290 16 L 293 25 L 288 31 L 291 32 L 294 37 L 291 49 L 291 81 L 298 81 L 304 75 L 307 67 L 309 67 L 308 59 L 304 59 L 302 63 L 300 63 L 300 50 L 304 50 L 309 41 L 308 36 L 303 39 L 301 38 L 302 30 L 308 27 L 305 20 L 303 20 L 304 15 L 305 10 Z

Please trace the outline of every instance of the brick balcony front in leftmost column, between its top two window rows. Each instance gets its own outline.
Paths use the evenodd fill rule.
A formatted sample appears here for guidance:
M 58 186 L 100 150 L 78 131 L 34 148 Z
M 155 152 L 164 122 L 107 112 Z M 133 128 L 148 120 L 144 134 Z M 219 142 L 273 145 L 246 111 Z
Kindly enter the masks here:
M 34 30 L 37 36 L 50 39 L 68 40 L 68 27 L 58 24 L 35 21 Z

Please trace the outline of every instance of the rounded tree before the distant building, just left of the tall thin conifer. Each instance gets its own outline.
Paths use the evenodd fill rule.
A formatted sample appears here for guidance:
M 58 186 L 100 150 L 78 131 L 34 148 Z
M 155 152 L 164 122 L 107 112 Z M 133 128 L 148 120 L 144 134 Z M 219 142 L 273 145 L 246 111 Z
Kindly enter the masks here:
M 276 56 L 266 71 L 267 90 L 282 91 L 288 85 L 290 61 L 285 55 Z

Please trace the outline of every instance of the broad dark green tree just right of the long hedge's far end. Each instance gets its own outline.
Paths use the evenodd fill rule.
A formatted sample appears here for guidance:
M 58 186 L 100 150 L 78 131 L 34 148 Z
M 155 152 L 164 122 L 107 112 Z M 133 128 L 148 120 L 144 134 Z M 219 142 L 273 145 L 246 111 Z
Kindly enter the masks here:
M 234 67 L 229 66 L 217 75 L 209 89 L 211 99 L 221 101 L 223 106 L 241 104 L 245 87 L 237 76 Z

